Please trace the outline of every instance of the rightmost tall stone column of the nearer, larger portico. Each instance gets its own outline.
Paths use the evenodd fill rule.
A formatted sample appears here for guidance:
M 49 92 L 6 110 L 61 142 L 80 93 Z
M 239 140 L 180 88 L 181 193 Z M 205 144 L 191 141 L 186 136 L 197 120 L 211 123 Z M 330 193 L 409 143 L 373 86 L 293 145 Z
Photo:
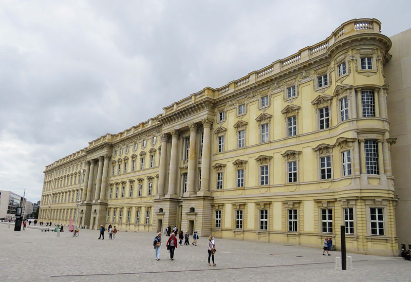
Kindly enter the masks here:
M 210 134 L 211 124 L 213 120 L 206 118 L 201 120 L 204 127 L 204 135 L 202 141 L 202 157 L 201 157 L 201 191 L 200 194 L 210 192 Z M 197 193 L 198 194 L 198 193 Z

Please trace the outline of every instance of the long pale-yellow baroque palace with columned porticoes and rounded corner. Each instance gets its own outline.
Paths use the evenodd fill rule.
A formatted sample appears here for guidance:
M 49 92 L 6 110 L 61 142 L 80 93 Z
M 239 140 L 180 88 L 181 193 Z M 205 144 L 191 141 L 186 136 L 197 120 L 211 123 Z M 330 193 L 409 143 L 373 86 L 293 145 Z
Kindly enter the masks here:
M 397 255 L 381 23 L 324 41 L 47 165 L 41 221 Z

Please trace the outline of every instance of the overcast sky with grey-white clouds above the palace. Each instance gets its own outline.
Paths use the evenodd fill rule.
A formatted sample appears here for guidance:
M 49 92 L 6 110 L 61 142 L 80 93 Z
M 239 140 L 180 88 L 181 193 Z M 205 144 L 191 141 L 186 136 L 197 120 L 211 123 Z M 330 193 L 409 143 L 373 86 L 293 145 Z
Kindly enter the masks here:
M 388 36 L 411 28 L 409 1 L 330 3 L 1 1 L 0 190 L 37 201 L 45 165 L 351 18 L 378 18 Z

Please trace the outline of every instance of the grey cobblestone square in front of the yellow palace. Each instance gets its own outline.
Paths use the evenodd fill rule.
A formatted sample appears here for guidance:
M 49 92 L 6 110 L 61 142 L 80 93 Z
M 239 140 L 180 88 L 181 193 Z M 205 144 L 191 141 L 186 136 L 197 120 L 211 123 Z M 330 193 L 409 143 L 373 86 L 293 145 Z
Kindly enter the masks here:
M 411 281 L 402 258 L 347 254 L 354 270 L 335 271 L 335 256 L 322 250 L 216 239 L 216 267 L 207 263 L 207 238 L 178 246 L 175 260 L 163 246 L 155 259 L 155 233 L 119 232 L 98 240 L 99 231 L 80 236 L 0 224 L 0 281 Z M 190 243 L 192 239 L 190 238 Z M 68 275 L 68 276 L 66 276 Z

